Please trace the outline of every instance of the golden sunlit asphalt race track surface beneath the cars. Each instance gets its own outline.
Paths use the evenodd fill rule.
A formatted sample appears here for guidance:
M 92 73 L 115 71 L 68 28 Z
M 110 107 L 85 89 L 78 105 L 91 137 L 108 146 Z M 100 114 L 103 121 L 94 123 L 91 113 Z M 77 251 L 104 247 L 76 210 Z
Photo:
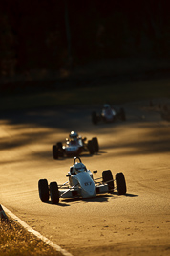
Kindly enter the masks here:
M 126 122 L 91 123 L 94 109 L 43 109 L 1 114 L 0 198 L 53 243 L 76 255 L 170 254 L 170 123 L 144 103 L 125 105 Z M 59 184 L 73 158 L 53 160 L 52 145 L 70 130 L 100 151 L 82 156 L 91 170 L 123 172 L 127 195 L 42 203 L 40 178 Z

